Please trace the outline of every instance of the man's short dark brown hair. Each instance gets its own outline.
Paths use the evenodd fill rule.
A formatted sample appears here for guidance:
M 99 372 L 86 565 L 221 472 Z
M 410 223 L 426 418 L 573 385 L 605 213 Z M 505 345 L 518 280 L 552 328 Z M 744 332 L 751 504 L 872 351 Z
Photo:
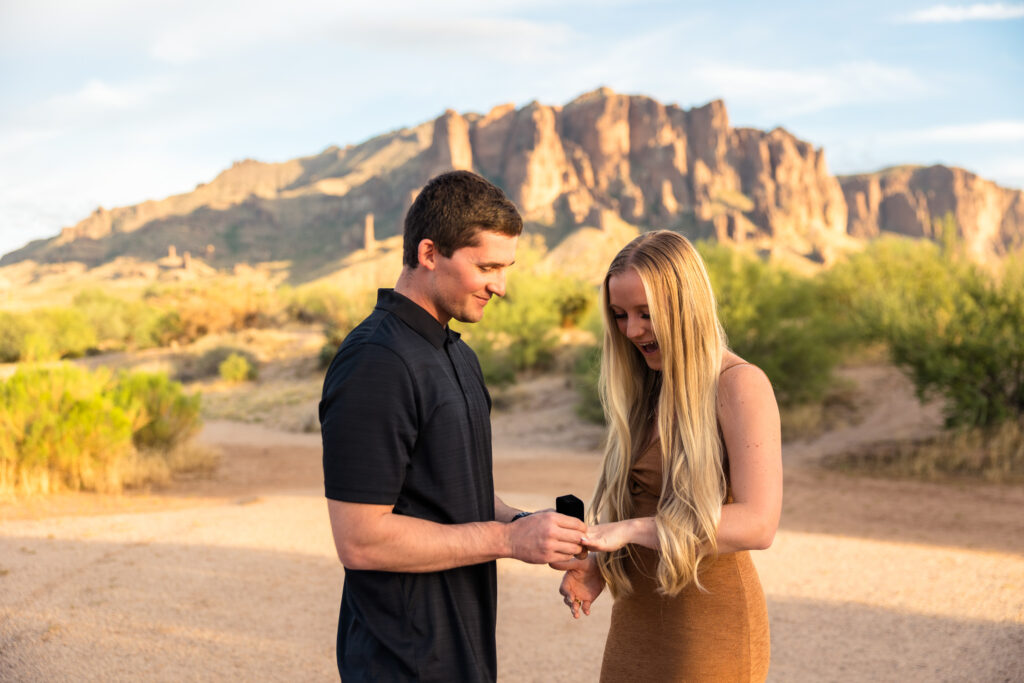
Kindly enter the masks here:
M 477 245 L 480 230 L 509 237 L 522 232 L 522 217 L 499 187 L 469 171 L 430 179 L 406 214 L 401 262 L 415 268 L 420 242 L 433 240 L 444 258 Z

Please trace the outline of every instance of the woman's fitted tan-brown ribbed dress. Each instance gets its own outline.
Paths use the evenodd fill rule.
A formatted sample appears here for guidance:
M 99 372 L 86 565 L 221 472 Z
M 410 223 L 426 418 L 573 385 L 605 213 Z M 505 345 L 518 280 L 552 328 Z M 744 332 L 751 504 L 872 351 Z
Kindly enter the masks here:
M 634 514 L 653 516 L 662 492 L 657 441 L 633 465 Z M 633 592 L 618 597 L 604 646 L 602 683 L 763 681 L 768 674 L 768 611 L 749 552 L 719 555 L 674 598 L 656 592 L 657 551 L 632 546 Z M 710 562 L 711 560 L 709 560 Z M 703 563 L 702 563 L 703 564 Z

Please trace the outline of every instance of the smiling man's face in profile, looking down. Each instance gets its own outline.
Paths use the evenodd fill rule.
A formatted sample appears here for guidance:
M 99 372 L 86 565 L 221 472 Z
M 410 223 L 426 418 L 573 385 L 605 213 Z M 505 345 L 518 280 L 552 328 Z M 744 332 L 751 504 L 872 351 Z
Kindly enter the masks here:
M 480 230 L 475 247 L 457 249 L 451 258 L 438 254 L 432 297 L 438 317 L 478 323 L 490 297 L 505 296 L 505 270 L 515 262 L 518 242 L 518 237 Z

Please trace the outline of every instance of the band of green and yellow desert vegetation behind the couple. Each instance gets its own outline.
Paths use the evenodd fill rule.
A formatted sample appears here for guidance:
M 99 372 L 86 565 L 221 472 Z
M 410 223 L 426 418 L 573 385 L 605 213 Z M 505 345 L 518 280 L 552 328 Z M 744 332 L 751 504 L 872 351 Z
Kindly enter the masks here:
M 954 230 L 942 233 L 941 244 L 879 240 L 812 275 L 729 247 L 698 245 L 729 343 L 771 378 L 785 438 L 812 438 L 856 421 L 855 390 L 836 369 L 864 358 L 890 361 L 923 400 L 943 401 L 947 431 L 850 453 L 831 465 L 927 478 L 1024 475 L 1024 259 L 985 269 L 963 256 L 949 237 Z M 453 327 L 476 350 L 497 394 L 524 374 L 568 372 L 580 415 L 600 421 L 598 288 L 561 274 L 544 256 L 543 246 L 524 241 L 508 295 L 492 302 L 480 324 Z M 182 444 L 199 424 L 200 398 L 178 382 L 207 392 L 215 417 L 237 419 L 257 393 L 260 405 L 272 403 L 270 394 L 314 400 L 315 369 L 330 362 L 374 297 L 370 289 L 218 275 L 119 296 L 92 288 L 68 307 L 0 311 L 0 360 L 19 364 L 2 389 L 0 485 L 117 490 L 166 480 L 191 466 L 181 459 Z M 318 358 L 313 351 L 309 362 L 294 366 L 301 387 L 284 382 L 280 369 L 264 377 L 265 358 L 236 343 L 247 331 L 288 326 L 323 339 Z M 53 365 L 147 348 L 176 349 L 163 375 Z M 102 365 L 101 358 L 90 365 L 96 361 Z M 259 392 L 246 388 L 253 381 L 261 383 Z M 308 420 L 292 421 L 310 428 Z

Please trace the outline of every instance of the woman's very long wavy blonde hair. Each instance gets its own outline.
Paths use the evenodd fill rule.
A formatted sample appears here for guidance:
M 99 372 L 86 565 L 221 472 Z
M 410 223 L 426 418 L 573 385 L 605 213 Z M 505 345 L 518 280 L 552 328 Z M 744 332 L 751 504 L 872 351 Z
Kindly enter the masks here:
M 629 268 L 640 275 L 647 295 L 660 371 L 647 367 L 611 316 L 608 280 Z M 608 266 L 601 299 L 604 352 L 599 389 L 609 429 L 590 522 L 632 516 L 630 469 L 656 416 L 663 472 L 654 517 L 660 545 L 657 583 L 664 594 L 677 595 L 691 582 L 700 588 L 697 569 L 718 551 L 726 481 L 716 397 L 725 332 L 703 261 L 686 238 L 669 230 L 641 234 L 618 252 Z M 628 561 L 628 546 L 598 556 L 613 595 L 632 590 Z

